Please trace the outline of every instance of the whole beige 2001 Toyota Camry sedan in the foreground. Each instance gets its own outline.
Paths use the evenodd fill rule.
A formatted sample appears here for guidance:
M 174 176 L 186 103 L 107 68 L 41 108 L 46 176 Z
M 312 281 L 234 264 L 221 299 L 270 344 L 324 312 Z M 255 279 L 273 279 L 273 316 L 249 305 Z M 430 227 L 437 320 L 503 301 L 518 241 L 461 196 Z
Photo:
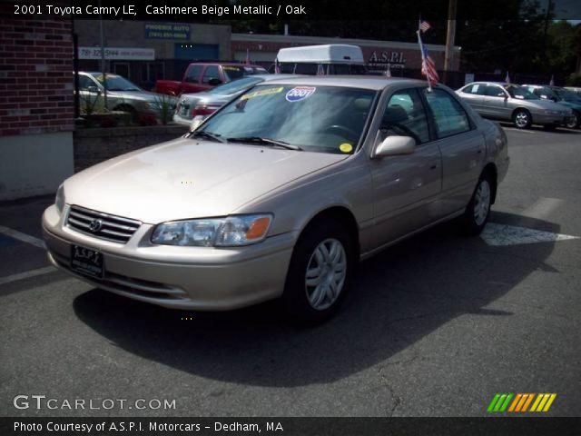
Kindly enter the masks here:
M 485 227 L 507 136 L 443 85 L 375 77 L 264 82 L 188 138 L 76 173 L 44 211 L 50 261 L 169 308 L 281 298 L 337 310 L 354 265 L 458 218 Z

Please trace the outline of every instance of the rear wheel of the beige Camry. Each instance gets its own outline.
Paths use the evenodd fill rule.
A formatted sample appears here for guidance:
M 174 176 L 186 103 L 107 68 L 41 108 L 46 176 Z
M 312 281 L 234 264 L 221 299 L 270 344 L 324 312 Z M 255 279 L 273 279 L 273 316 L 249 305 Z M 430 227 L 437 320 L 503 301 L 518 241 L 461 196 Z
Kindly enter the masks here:
M 468 236 L 477 236 L 482 232 L 490 216 L 493 192 L 494 180 L 492 176 L 490 173 L 482 173 L 466 211 L 460 219 L 463 233 Z

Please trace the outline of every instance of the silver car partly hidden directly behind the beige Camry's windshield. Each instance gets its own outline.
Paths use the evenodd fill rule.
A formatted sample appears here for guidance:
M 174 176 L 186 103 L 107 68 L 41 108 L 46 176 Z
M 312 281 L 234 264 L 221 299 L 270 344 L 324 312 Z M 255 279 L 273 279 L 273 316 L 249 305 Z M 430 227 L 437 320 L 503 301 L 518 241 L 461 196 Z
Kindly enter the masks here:
M 256 74 L 236 79 L 228 84 L 221 84 L 205 93 L 182 94 L 175 108 L 173 121 L 177 124 L 190 125 L 194 116 L 208 116 L 220 109 L 237 95 L 242 94 L 255 84 L 261 82 L 300 77 L 298 74 Z

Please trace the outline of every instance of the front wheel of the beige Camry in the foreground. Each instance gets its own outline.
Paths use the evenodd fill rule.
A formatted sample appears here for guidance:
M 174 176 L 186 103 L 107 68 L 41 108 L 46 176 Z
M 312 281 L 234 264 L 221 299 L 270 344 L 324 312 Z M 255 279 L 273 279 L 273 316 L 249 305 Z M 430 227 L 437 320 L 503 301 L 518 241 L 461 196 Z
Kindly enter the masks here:
M 291 322 L 319 323 L 337 312 L 349 290 L 353 257 L 345 226 L 321 220 L 307 227 L 294 247 L 282 294 Z

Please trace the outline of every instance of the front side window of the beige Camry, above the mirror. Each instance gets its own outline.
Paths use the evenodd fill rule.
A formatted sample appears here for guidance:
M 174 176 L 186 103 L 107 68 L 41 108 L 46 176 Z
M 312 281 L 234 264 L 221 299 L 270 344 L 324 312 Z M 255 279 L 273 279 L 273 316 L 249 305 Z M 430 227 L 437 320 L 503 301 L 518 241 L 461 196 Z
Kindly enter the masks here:
M 406 89 L 391 95 L 380 129 L 388 131 L 388 134 L 414 136 L 419 144 L 429 141 L 428 120 L 416 89 Z

